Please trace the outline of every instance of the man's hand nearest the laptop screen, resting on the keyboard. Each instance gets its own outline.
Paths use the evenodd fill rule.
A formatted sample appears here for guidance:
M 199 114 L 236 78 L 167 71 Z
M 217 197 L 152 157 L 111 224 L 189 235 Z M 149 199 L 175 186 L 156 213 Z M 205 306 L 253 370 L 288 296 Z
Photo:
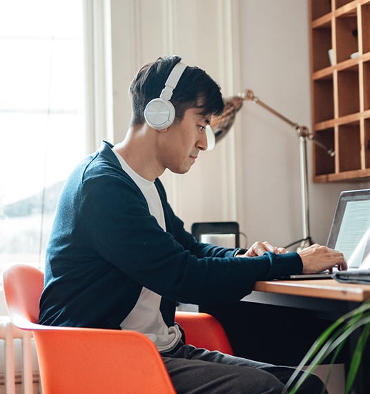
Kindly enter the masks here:
M 347 262 L 343 253 L 327 246 L 313 244 L 300 250 L 298 254 L 302 259 L 302 273 L 304 274 L 320 273 L 324 270 L 329 270 L 331 273 L 334 266 L 337 266 L 338 270 L 347 270 Z

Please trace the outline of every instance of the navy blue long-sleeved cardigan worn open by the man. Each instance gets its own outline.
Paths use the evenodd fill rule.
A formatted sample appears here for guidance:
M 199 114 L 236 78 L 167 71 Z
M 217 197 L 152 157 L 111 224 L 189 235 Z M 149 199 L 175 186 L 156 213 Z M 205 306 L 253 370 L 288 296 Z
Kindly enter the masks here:
M 300 273 L 297 253 L 236 258 L 233 249 L 198 243 L 173 213 L 159 179 L 166 231 L 122 170 L 110 144 L 87 157 L 61 192 L 46 252 L 39 322 L 117 328 L 142 287 L 162 295 L 174 323 L 175 303 L 234 302 L 260 279 Z

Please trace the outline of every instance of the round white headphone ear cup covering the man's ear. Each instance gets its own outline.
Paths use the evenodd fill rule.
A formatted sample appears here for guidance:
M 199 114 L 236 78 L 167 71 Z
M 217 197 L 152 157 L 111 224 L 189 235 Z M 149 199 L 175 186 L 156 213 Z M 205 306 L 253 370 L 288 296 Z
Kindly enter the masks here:
M 161 98 L 153 99 L 146 104 L 144 117 L 150 127 L 163 130 L 173 124 L 175 108 L 171 101 Z

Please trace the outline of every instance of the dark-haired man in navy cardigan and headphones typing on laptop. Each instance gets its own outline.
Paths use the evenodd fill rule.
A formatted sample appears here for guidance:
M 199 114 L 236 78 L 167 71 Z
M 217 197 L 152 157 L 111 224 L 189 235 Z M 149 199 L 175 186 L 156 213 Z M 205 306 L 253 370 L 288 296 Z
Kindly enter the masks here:
M 298 254 L 256 242 L 233 250 L 200 244 L 184 230 L 158 177 L 166 168 L 179 174 L 191 168 L 207 148 L 206 126 L 223 101 L 206 72 L 180 60 L 159 58 L 139 70 L 130 86 L 126 137 L 115 146 L 103 142 L 66 181 L 48 244 L 39 322 L 144 333 L 178 393 L 281 393 L 291 368 L 185 345 L 175 304 L 233 302 L 256 280 L 346 263 L 325 246 Z M 304 392 L 321 386 L 311 375 Z

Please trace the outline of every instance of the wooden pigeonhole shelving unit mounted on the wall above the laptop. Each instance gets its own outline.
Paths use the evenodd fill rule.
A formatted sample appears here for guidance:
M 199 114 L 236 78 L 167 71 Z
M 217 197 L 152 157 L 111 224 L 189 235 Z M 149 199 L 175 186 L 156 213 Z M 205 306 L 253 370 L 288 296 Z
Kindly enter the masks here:
M 309 4 L 313 180 L 370 179 L 370 0 Z

